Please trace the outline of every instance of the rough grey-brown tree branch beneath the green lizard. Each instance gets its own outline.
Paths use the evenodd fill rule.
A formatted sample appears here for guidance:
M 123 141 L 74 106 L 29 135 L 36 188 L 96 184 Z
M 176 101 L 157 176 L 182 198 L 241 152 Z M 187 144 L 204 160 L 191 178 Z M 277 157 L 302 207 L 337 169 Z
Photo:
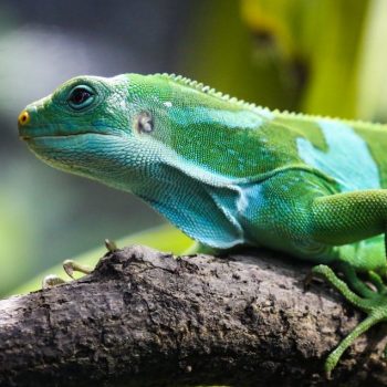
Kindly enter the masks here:
M 383 327 L 325 379 L 363 316 L 323 283 L 305 292 L 308 270 L 264 250 L 119 250 L 79 281 L 0 301 L 0 385 L 387 385 Z

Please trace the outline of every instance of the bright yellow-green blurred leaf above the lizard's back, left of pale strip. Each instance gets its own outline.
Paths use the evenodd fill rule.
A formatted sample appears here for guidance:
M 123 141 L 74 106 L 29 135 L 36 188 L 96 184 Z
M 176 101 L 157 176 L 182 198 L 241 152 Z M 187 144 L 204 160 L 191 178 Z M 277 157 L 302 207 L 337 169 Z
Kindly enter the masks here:
M 353 117 L 368 1 L 244 0 L 242 4 L 250 29 L 272 35 L 283 60 L 304 72 L 299 106 Z

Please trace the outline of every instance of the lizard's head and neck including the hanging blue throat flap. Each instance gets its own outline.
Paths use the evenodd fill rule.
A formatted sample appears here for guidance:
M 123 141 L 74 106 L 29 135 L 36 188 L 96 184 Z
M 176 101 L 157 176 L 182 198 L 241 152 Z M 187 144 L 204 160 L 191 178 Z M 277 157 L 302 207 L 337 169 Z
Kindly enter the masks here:
M 229 247 L 240 229 L 216 190 L 230 198 L 234 178 L 257 175 L 242 155 L 257 153 L 265 114 L 179 76 L 79 76 L 28 105 L 19 133 L 48 164 L 133 191 L 192 238 Z

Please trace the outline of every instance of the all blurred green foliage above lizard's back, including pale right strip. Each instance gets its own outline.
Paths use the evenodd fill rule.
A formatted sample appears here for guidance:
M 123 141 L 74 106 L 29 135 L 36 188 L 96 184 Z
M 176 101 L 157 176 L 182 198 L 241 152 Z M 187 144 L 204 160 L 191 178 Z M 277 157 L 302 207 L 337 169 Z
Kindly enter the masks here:
M 185 55 L 192 77 L 271 108 L 387 119 L 385 1 L 218 0 L 205 8 L 197 49 Z

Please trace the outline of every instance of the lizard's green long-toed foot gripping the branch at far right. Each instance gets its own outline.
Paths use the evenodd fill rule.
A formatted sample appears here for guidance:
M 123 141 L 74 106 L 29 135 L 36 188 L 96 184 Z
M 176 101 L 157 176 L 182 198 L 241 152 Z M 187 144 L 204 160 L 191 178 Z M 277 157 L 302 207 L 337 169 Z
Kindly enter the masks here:
M 372 291 L 369 287 L 366 291 L 365 287 L 359 286 L 357 278 L 355 283 L 351 282 L 353 278 L 346 278 L 348 283 L 354 287 L 358 287 L 362 293 L 362 296 L 355 294 L 348 285 L 333 272 L 330 266 L 320 264 L 313 268 L 313 273 L 324 278 L 333 287 L 335 287 L 351 304 L 358 307 L 360 311 L 367 314 L 367 317 L 359 323 L 339 344 L 338 346 L 330 354 L 325 360 L 325 372 L 330 377 L 332 370 L 337 365 L 339 358 L 342 357 L 345 349 L 354 343 L 354 341 L 362 335 L 364 332 L 368 331 L 373 325 L 387 321 L 387 296 L 385 293 L 386 286 L 384 285 L 380 276 L 374 272 L 369 273 L 369 280 L 375 285 L 376 291 Z M 347 274 L 347 273 L 345 273 Z M 363 283 L 364 286 L 366 284 Z M 383 285 L 383 286 L 381 286 Z M 369 291 L 369 293 L 368 293 Z

